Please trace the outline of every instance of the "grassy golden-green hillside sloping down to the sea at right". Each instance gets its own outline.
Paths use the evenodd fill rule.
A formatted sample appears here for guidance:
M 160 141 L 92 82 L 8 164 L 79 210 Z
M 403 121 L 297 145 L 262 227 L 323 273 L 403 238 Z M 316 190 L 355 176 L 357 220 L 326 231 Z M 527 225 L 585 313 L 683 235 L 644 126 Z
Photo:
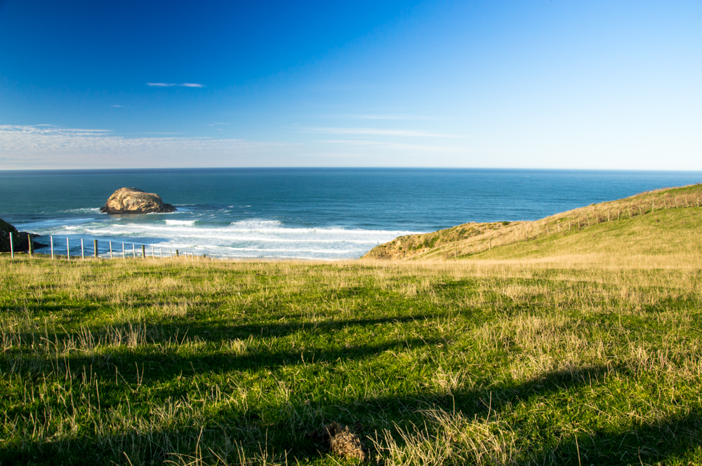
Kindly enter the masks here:
M 702 185 L 658 189 L 536 221 L 469 223 L 401 236 L 365 259 L 519 259 L 702 251 Z

